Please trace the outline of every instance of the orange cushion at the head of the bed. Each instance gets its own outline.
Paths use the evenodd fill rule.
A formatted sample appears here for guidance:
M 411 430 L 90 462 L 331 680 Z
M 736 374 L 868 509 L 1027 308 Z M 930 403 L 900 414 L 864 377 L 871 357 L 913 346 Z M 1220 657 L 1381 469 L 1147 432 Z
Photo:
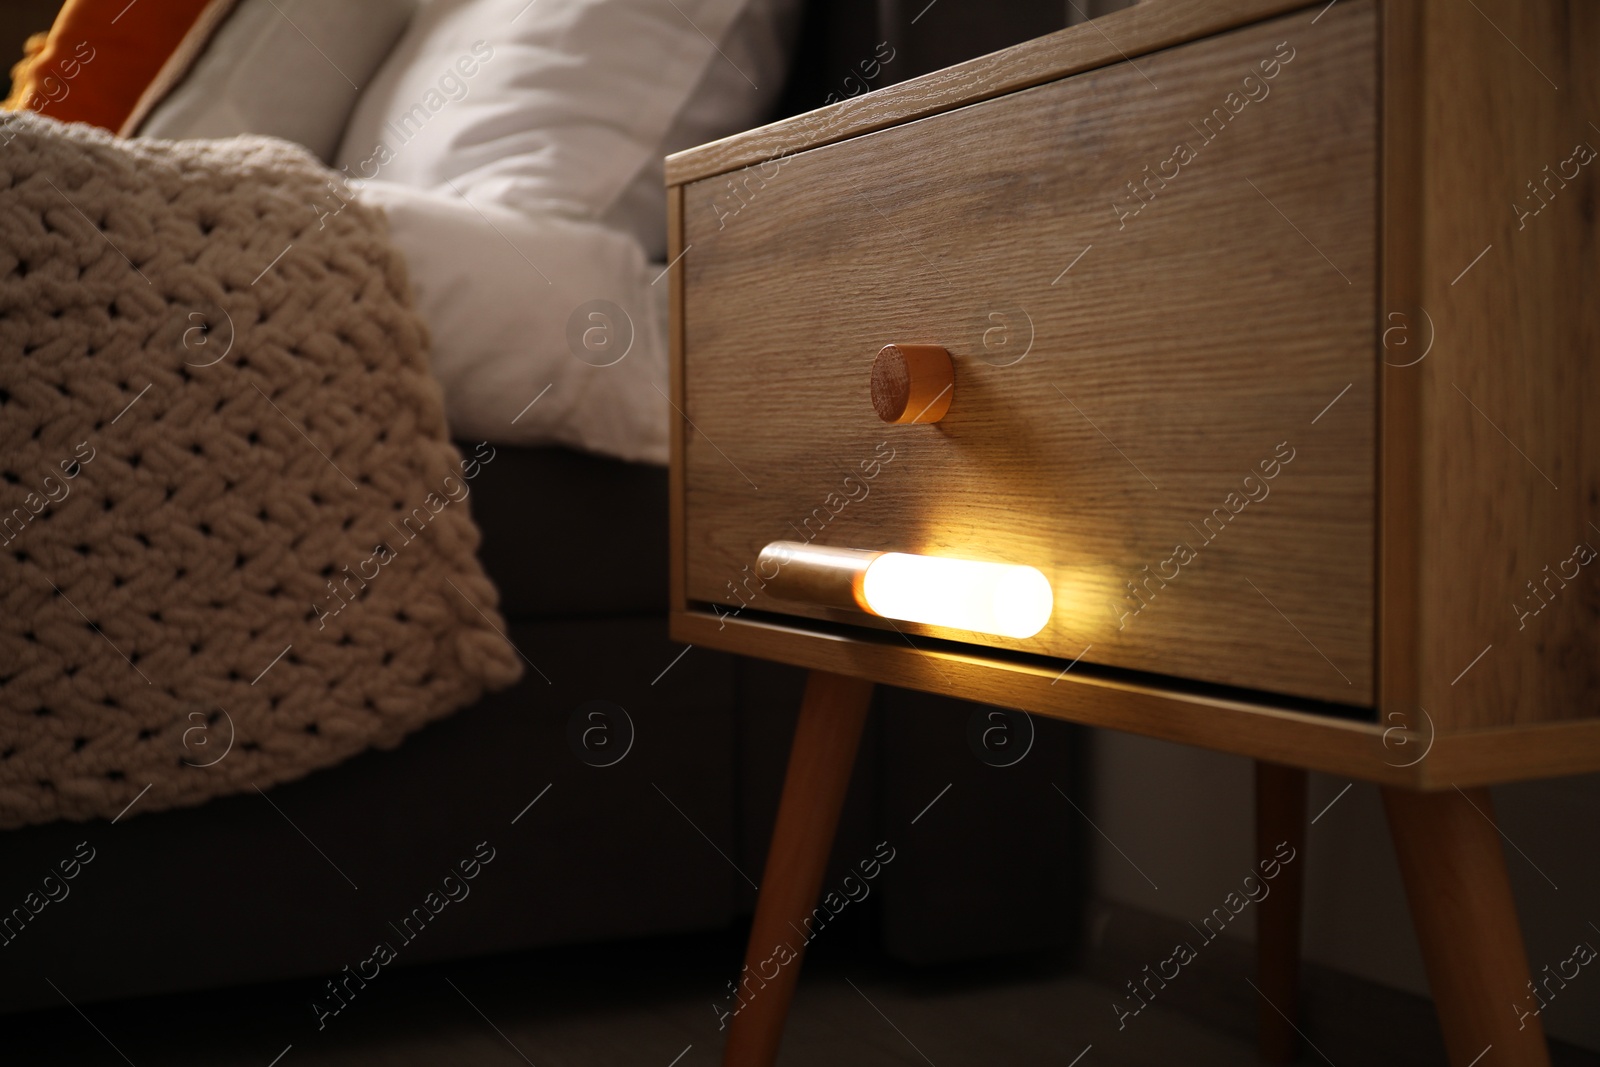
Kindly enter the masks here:
M 210 0 L 67 0 L 11 70 L 8 110 L 117 131 Z

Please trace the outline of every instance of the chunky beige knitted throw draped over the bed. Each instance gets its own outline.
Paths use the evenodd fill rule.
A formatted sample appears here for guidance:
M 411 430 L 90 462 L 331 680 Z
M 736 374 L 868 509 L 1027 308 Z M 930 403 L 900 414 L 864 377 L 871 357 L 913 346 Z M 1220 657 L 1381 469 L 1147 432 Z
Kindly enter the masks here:
M 306 150 L 0 115 L 0 827 L 267 789 L 520 675 L 424 346 Z

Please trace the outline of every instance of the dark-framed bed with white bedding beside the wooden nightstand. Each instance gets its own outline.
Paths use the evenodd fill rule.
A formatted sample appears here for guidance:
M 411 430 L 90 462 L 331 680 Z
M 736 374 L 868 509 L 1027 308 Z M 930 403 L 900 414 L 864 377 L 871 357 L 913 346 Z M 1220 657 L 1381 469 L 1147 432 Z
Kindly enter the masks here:
M 237 74 L 269 30 L 304 37 L 267 18 L 264 8 L 275 6 L 288 21 L 317 5 L 200 5 L 197 18 L 218 19 L 205 34 L 218 46 L 210 67 Z M 346 48 L 336 53 L 344 72 L 315 74 L 315 98 L 331 94 L 346 106 L 331 123 L 320 112 L 314 128 L 293 130 L 259 112 L 224 114 L 226 93 L 195 80 L 208 69 L 208 53 L 195 46 L 158 91 L 136 101 L 122 126 L 165 138 L 294 134 L 365 182 L 357 194 L 363 203 L 387 210 L 432 334 L 458 451 L 478 454 L 482 442 L 494 454 L 474 482 L 470 514 L 482 536 L 477 560 L 498 589 L 502 637 L 523 661 L 522 677 L 392 749 L 362 752 L 298 781 L 166 811 L 147 795 L 133 797 L 134 782 L 126 789 L 133 803 L 120 813 L 6 830 L 0 907 L 24 907 L 22 921 L 5 933 L 11 966 L 0 976 L 0 1005 L 10 1009 L 56 1003 L 43 974 L 83 1003 L 338 973 L 480 841 L 496 861 L 474 881 L 470 901 L 406 942 L 405 963 L 718 929 L 754 902 L 747 875 L 762 867 L 792 729 L 786 709 L 797 705 L 802 680 L 798 672 L 686 649 L 666 635 L 667 486 L 659 464 L 677 418 L 656 395 L 666 384 L 666 326 L 654 304 L 664 285 L 653 283 L 667 267 L 661 206 L 650 194 L 659 192 L 659 157 L 1050 32 L 1062 13 L 1054 3 L 997 13 L 976 0 L 829 0 L 803 11 L 781 3 L 690 6 L 685 18 L 704 14 L 704 26 L 715 22 L 712 14 L 722 19 L 722 32 L 710 37 L 723 48 L 686 53 L 674 74 L 675 107 L 653 115 L 654 141 L 634 138 L 645 144 L 643 155 L 632 168 L 613 168 L 600 203 L 598 186 L 586 176 L 595 158 L 618 154 L 614 144 L 587 146 L 587 155 L 573 157 L 576 178 L 550 179 L 538 194 L 528 192 L 526 174 L 496 170 L 494 162 L 461 170 L 461 144 L 422 162 L 427 139 L 443 139 L 443 123 L 467 102 L 477 106 L 488 78 L 531 62 L 536 51 L 525 42 L 526 51 L 485 56 L 474 51 L 478 37 L 470 27 L 427 32 L 474 6 L 507 26 L 533 18 L 522 3 L 435 0 L 416 16 L 421 22 L 408 3 L 374 5 L 387 29 L 365 43 L 341 38 L 334 24 L 323 27 L 333 35 L 328 48 L 341 40 Z M 643 0 L 571 6 L 629 11 L 643 26 L 672 16 Z M 283 64 L 288 69 L 274 75 L 288 104 L 301 99 L 280 109 L 291 125 L 307 112 L 304 98 L 291 93 L 314 77 L 315 58 L 304 59 L 306 69 Z M 350 82 L 355 62 L 371 77 Z M 704 104 L 758 70 L 773 77 L 755 77 L 765 88 L 744 110 L 696 110 L 698 91 Z M 592 85 L 594 72 L 586 77 L 590 82 L 579 85 Z M 341 80 L 354 91 L 339 88 Z M 382 96 L 389 110 L 363 112 L 357 83 L 374 93 L 368 102 Z M 427 109 L 430 88 L 443 104 L 426 123 L 395 125 L 394 115 L 411 110 L 408 101 Z M 256 96 L 269 96 L 259 83 L 245 102 Z M 469 133 L 451 136 L 470 139 L 470 130 L 498 118 L 490 110 L 474 122 L 464 122 Z M 354 136 L 352 123 L 365 123 L 366 136 Z M 387 173 L 373 166 L 381 147 L 392 157 Z M 309 211 L 331 216 L 338 205 L 334 197 Z M 528 253 L 549 248 L 560 248 L 570 269 L 552 269 L 557 277 L 541 282 L 549 261 Z M 538 286 L 566 293 L 534 307 L 525 293 Z M 485 307 L 510 314 L 490 322 Z M 630 344 L 619 339 L 624 325 Z M 549 342 L 530 357 L 531 336 Z M 893 742 L 869 741 L 837 845 L 840 870 L 870 854 L 883 827 L 904 825 L 941 789 L 962 798 L 938 835 L 904 853 L 898 877 L 885 880 L 872 905 L 885 942 L 907 960 L 1059 947 L 1075 936 L 1070 921 L 1038 915 L 1070 913 L 1059 902 L 1078 891 L 1077 829 L 1010 814 L 1022 806 L 1008 806 L 1008 798 L 1051 779 L 1077 782 L 1077 747 L 1067 728 L 1040 723 L 1032 758 L 998 773 L 966 745 L 981 713 L 930 696 L 880 697 L 880 720 L 915 720 L 917 729 L 885 731 Z M 222 742 L 219 728 L 210 739 Z M 94 861 L 82 865 L 70 891 L 59 901 L 42 893 L 48 877 L 61 885 L 61 864 L 83 846 Z M 918 889 L 930 885 L 936 896 Z M 40 899 L 37 910 L 24 904 Z

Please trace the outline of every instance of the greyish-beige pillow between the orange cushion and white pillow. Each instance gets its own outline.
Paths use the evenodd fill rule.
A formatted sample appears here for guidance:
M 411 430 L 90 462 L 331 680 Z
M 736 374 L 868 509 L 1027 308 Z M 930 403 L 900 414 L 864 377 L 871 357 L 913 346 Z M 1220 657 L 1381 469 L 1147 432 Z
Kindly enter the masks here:
M 362 86 L 416 6 L 418 0 L 240 0 L 138 134 L 181 141 L 261 133 L 331 162 Z

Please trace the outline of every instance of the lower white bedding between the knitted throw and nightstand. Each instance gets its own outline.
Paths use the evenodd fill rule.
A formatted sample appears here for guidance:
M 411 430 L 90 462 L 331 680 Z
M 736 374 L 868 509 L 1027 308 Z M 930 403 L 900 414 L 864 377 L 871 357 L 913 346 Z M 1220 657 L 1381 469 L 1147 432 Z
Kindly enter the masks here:
M 638 242 L 448 190 L 357 197 L 406 258 L 454 437 L 667 462 L 667 280 Z

